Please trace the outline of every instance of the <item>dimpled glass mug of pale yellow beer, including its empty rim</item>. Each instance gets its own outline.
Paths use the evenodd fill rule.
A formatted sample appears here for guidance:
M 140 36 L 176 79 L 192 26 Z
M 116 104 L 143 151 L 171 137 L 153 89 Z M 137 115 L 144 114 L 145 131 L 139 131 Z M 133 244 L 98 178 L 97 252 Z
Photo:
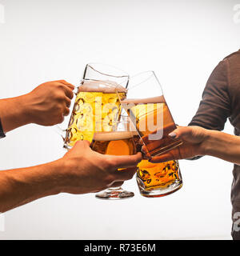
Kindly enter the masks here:
M 112 66 L 86 65 L 66 129 L 64 147 L 67 150 L 78 140 L 91 142 L 95 130 L 109 132 L 113 129 L 121 113 L 119 98 L 126 98 L 128 81 L 128 74 Z

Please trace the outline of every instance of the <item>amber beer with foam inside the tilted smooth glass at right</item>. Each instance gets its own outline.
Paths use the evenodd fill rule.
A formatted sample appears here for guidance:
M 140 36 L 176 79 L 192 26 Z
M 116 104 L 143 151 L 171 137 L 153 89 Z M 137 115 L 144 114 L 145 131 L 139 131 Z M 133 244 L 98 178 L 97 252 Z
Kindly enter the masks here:
M 134 122 L 151 157 L 182 144 L 168 134 L 176 129 L 174 119 L 163 96 L 139 100 L 123 100 L 122 106 Z

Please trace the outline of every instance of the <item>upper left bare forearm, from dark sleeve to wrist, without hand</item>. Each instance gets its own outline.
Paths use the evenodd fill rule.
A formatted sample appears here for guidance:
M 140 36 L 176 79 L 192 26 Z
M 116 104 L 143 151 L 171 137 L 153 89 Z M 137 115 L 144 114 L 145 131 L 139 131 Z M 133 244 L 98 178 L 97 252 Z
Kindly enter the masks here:
M 5 133 L 31 122 L 27 94 L 0 100 L 0 118 Z

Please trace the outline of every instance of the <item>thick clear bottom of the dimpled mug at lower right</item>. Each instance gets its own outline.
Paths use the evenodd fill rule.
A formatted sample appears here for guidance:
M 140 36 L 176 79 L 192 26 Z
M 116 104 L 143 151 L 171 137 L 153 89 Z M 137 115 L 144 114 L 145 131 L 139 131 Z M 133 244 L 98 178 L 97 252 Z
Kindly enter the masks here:
M 177 183 L 174 183 L 172 184 L 171 186 L 169 187 L 165 187 L 164 189 L 161 189 L 161 188 L 156 188 L 156 189 L 151 189 L 151 190 L 140 190 L 140 194 L 143 196 L 143 197 L 146 197 L 146 198 L 160 198 L 160 197 L 164 197 L 168 194 L 173 194 L 174 192 L 180 190 L 182 188 L 182 181 L 180 182 L 177 182 Z

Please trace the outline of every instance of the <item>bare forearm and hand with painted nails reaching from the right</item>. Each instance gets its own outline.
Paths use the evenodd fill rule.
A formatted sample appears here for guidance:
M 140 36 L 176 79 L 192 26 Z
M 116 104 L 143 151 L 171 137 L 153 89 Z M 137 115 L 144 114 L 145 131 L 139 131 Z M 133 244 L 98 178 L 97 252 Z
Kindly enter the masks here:
M 166 154 L 152 158 L 150 162 L 166 162 L 173 159 L 210 155 L 240 165 L 240 138 L 218 130 L 206 130 L 198 126 L 178 127 L 170 134 L 181 138 L 183 145 Z

